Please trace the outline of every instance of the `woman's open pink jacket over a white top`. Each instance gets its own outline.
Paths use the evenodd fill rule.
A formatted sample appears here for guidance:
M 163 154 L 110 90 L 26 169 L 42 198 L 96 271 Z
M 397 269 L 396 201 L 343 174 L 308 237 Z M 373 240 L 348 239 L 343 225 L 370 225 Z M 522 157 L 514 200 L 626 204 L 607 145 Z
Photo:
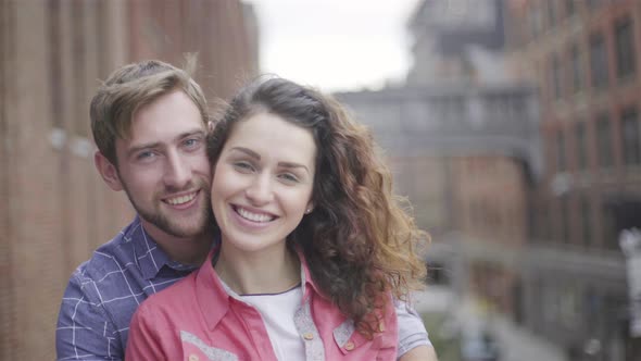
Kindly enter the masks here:
M 131 320 L 126 360 L 276 360 L 256 309 L 227 294 L 212 256 L 185 279 L 151 296 Z M 388 302 L 381 333 L 364 338 L 322 296 L 301 257 L 303 300 L 294 323 L 306 360 L 395 360 L 397 315 Z

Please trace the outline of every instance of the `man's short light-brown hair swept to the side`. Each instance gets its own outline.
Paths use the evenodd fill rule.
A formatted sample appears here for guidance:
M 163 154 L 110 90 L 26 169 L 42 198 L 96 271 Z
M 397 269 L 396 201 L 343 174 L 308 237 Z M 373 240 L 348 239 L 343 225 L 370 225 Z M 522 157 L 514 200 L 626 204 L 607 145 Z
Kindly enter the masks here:
M 196 58 L 186 70 L 159 60 L 146 60 L 113 72 L 91 100 L 91 133 L 100 152 L 117 166 L 116 138 L 130 136 L 131 119 L 140 108 L 174 90 L 185 92 L 198 107 L 203 123 L 209 122 L 205 97 L 191 78 Z

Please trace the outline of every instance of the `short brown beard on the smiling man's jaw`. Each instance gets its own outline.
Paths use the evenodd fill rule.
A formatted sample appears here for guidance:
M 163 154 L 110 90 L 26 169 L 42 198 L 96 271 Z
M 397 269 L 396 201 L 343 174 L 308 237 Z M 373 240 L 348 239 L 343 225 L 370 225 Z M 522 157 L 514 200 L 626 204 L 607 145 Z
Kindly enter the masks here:
M 166 214 L 163 214 L 163 212 L 160 210 L 160 207 L 155 204 L 154 210 L 149 210 L 140 207 L 138 203 L 136 203 L 134 197 L 131 197 L 129 190 L 124 184 L 123 188 L 127 194 L 127 198 L 129 198 L 129 202 L 131 202 L 131 206 L 134 207 L 136 212 L 138 212 L 138 215 L 140 215 L 141 219 L 155 225 L 159 229 L 168 235 L 180 238 L 196 237 L 206 232 L 210 232 L 215 227 L 214 213 L 211 207 L 210 187 L 208 187 L 208 185 L 204 183 L 200 187 L 200 192 L 203 192 L 204 195 L 202 200 L 204 204 L 201 204 L 202 211 L 199 215 L 197 215 L 197 217 L 200 217 L 201 221 L 200 224 L 198 224 L 196 227 L 189 228 L 184 227 L 185 224 L 172 222 Z M 154 201 L 155 199 L 158 198 L 154 197 Z M 158 202 L 160 203 L 161 201 Z

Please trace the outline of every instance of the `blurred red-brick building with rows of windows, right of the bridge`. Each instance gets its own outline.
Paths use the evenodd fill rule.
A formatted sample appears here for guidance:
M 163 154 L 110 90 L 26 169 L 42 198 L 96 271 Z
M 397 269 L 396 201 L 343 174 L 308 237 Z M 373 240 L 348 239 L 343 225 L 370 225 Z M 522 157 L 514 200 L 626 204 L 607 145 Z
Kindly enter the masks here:
M 541 99 L 526 325 L 573 360 L 638 360 L 618 234 L 641 226 L 641 2 L 506 1 L 508 64 Z

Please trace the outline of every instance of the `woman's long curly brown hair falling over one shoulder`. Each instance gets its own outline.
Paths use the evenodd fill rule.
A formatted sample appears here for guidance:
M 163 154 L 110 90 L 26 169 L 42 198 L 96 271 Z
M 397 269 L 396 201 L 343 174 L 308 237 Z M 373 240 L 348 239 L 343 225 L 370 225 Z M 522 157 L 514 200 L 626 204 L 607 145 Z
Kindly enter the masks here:
M 208 141 L 212 164 L 236 123 L 257 113 L 307 128 L 316 141 L 314 210 L 288 236 L 314 282 L 369 337 L 390 301 L 423 287 L 418 231 L 392 194 L 392 177 L 369 130 L 329 96 L 282 78 L 259 79 L 231 100 Z M 277 145 L 275 145 L 277 146 Z

